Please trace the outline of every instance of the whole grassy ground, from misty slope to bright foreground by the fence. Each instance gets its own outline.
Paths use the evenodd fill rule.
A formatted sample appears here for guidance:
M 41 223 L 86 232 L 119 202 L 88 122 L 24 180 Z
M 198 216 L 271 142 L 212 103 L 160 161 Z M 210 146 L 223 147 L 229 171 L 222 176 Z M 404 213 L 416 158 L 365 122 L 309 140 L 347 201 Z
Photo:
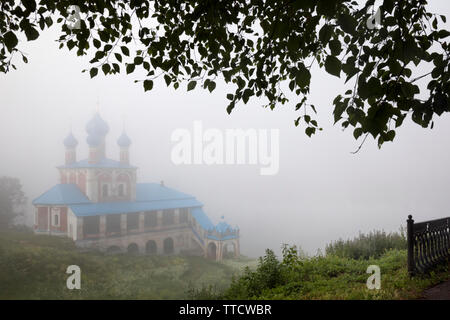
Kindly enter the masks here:
M 285 246 L 281 260 L 267 250 L 218 263 L 80 252 L 65 238 L 0 232 L 0 299 L 416 299 L 449 279 L 448 266 L 411 279 L 405 250 L 376 256 L 303 257 Z M 81 268 L 81 290 L 66 288 L 69 265 Z M 381 269 L 380 290 L 366 287 L 369 265 Z

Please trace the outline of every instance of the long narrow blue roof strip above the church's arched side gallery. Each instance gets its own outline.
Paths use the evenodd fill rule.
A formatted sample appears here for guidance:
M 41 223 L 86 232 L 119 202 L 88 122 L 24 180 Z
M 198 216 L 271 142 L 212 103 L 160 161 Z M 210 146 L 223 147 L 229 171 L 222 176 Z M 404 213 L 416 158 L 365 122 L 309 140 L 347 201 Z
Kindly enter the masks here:
M 201 205 L 201 202 L 197 201 L 195 198 L 192 198 L 184 200 L 157 200 L 149 202 L 98 202 L 91 204 L 75 204 L 70 205 L 69 207 L 77 217 L 84 217 L 105 214 L 189 208 Z

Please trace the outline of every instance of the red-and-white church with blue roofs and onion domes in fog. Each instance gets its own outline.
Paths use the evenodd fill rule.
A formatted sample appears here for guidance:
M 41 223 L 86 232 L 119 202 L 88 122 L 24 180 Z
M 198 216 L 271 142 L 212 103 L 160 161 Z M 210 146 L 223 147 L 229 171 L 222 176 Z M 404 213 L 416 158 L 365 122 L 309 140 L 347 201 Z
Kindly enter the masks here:
M 223 220 L 213 224 L 195 197 L 162 182 L 136 182 L 125 132 L 117 140 L 119 160 L 113 160 L 105 153 L 109 126 L 98 113 L 86 131 L 88 159 L 77 160 L 78 141 L 69 133 L 60 183 L 33 200 L 35 233 L 109 253 L 239 256 L 239 229 Z

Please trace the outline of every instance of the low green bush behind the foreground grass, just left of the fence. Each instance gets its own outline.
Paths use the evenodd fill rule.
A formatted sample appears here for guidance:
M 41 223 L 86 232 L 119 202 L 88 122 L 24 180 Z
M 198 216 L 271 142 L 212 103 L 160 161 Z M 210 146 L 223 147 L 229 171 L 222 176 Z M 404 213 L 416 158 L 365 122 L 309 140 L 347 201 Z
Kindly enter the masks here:
M 328 256 L 367 260 L 370 257 L 379 258 L 390 249 L 406 249 L 406 236 L 402 228 L 400 233 L 372 231 L 367 235 L 360 233 L 352 240 L 339 239 L 327 245 L 325 253 Z

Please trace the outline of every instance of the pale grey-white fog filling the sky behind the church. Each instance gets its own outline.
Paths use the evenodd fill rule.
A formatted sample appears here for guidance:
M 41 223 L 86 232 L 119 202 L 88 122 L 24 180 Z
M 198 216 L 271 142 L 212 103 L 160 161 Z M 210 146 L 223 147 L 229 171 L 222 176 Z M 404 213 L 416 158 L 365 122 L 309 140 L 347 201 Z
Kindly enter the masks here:
M 449 16 L 444 1 L 432 12 Z M 448 24 L 447 24 L 448 28 Z M 167 88 L 162 78 L 144 92 L 131 75 L 90 79 L 88 59 L 59 50 L 58 30 L 24 43 L 29 63 L 16 57 L 17 71 L 0 75 L 0 176 L 20 179 L 28 201 L 58 183 L 56 166 L 64 163 L 62 140 L 72 128 L 78 139 L 77 158 L 87 157 L 85 125 L 99 110 L 110 126 L 107 156 L 118 159 L 116 140 L 123 130 L 132 140 L 130 162 L 139 167 L 138 182 L 165 185 L 194 195 L 217 223 L 223 215 L 238 225 L 241 252 L 249 256 L 265 248 L 279 252 L 282 243 L 300 245 L 314 254 L 338 238 L 359 231 L 397 231 L 408 214 L 416 221 L 449 215 L 450 117 L 435 119 L 434 129 L 405 120 L 393 143 L 378 149 L 369 137 L 355 151 L 352 130 L 333 125 L 332 101 L 345 90 L 343 81 L 312 72 L 308 103 L 318 109 L 323 131 L 312 138 L 295 127 L 298 112 L 291 102 L 275 110 L 253 98 L 226 112 L 226 94 L 233 86 L 218 81 L 212 93 Z M 424 69 L 425 70 L 425 69 Z M 422 89 L 425 82 L 421 82 Z M 261 175 L 260 165 L 176 165 L 171 160 L 177 129 L 192 132 L 194 121 L 204 129 L 279 129 L 279 170 Z M 32 224 L 32 206 L 27 207 Z

